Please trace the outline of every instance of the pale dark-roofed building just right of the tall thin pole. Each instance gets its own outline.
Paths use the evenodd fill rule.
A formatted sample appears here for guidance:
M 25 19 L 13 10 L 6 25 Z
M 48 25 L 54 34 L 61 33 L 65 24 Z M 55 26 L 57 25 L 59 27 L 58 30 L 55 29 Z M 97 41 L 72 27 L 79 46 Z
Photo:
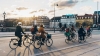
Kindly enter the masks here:
M 53 17 L 51 20 L 50 20 L 50 28 L 59 28 L 58 24 L 61 20 L 61 16 L 58 16 L 58 17 Z

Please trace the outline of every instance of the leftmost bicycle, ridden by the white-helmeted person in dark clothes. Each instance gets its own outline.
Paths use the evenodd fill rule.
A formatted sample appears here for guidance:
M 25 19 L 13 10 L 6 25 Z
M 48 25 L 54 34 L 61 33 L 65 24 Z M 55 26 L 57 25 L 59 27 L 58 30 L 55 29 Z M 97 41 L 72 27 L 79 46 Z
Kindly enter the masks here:
M 30 45 L 30 38 L 29 38 L 29 34 L 24 34 L 23 37 L 25 37 L 22 42 L 23 42 L 23 45 L 25 47 L 28 47 Z M 11 49 L 16 49 L 18 47 L 18 41 L 19 41 L 19 38 L 11 38 L 10 42 L 9 42 L 9 47 Z M 27 45 L 28 44 L 28 45 Z

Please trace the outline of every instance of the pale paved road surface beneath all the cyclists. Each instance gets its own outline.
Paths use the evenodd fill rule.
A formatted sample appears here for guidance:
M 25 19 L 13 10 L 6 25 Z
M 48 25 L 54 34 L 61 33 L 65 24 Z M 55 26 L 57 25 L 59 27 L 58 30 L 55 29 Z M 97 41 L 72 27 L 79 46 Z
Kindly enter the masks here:
M 0 56 L 100 56 L 100 37 L 99 31 L 93 31 L 92 38 L 86 42 L 65 43 L 63 33 L 52 35 L 53 45 L 47 47 L 43 45 L 40 49 L 35 49 L 33 45 L 29 47 L 18 47 L 15 50 L 9 48 L 11 38 L 0 38 Z

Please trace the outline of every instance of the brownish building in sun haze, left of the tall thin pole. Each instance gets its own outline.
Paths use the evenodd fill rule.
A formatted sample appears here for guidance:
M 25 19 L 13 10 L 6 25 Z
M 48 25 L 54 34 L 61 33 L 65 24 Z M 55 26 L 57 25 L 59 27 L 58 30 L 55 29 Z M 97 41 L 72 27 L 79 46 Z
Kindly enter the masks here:
M 36 25 L 41 25 L 41 24 L 43 24 L 44 25 L 44 27 L 49 27 L 49 18 L 47 17 L 47 16 L 38 16 L 37 18 L 36 18 L 36 20 L 34 21 L 34 23 L 36 24 Z

